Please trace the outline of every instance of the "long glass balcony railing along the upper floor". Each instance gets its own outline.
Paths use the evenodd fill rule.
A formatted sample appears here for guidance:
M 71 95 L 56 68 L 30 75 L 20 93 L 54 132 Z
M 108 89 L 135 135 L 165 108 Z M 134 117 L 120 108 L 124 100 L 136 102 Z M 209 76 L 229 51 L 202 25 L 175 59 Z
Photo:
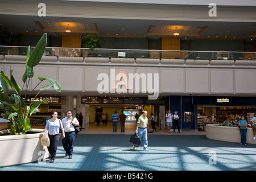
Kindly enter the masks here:
M 26 55 L 26 46 L 0 46 L 0 55 Z M 32 51 L 34 47 L 31 47 Z M 44 56 L 119 57 L 145 59 L 256 60 L 256 52 L 234 51 L 171 51 L 147 49 L 94 49 L 46 47 Z

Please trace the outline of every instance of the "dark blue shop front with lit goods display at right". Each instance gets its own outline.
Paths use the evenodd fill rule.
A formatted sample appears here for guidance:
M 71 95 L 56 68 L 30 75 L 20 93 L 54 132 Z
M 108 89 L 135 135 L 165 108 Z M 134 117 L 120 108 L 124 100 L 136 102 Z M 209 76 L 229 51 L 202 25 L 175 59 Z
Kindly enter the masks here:
M 256 113 L 256 97 L 170 96 L 170 109 L 181 115 L 181 129 L 205 131 L 209 123 L 235 123 L 239 115 L 250 122 Z

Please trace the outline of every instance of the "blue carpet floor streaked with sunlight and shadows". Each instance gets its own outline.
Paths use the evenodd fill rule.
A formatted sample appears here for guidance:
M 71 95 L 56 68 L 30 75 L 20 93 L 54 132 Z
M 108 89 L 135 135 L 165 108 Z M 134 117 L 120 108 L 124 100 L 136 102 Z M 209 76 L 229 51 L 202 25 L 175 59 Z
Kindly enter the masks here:
M 3 167 L 0 171 L 252 171 L 256 146 L 210 140 L 205 135 L 148 135 L 149 152 L 132 149 L 130 135 L 77 135 L 73 159 L 59 142 L 54 163 Z M 213 156 L 212 154 L 215 154 Z M 214 157 L 214 159 L 212 159 Z M 211 162 L 216 164 L 210 164 Z

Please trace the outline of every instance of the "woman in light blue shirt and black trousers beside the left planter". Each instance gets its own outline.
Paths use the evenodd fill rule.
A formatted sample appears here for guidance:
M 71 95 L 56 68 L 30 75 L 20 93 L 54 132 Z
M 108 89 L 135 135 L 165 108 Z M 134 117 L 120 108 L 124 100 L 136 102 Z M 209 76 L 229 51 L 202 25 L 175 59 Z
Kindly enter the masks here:
M 57 118 L 58 113 L 56 111 L 52 111 L 51 113 L 51 119 L 49 119 L 46 123 L 45 127 L 45 133 L 48 134 L 50 144 L 49 147 L 47 147 L 49 154 L 51 154 L 51 160 L 50 163 L 54 163 L 56 152 L 57 152 L 57 146 L 60 139 L 60 129 L 63 134 L 63 138 L 65 138 L 64 128 L 62 123 L 60 122 L 60 119 Z

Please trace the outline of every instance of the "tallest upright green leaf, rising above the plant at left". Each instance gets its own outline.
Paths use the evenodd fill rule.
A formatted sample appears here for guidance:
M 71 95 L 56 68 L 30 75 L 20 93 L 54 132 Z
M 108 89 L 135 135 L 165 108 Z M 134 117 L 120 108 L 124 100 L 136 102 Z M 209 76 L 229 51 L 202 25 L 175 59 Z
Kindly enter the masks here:
M 38 44 L 36 44 L 34 51 L 31 53 L 27 61 L 28 67 L 33 68 L 39 64 L 40 60 L 42 59 L 44 49 L 46 49 L 46 43 L 47 43 L 47 34 L 44 33 L 44 35 L 40 38 Z

